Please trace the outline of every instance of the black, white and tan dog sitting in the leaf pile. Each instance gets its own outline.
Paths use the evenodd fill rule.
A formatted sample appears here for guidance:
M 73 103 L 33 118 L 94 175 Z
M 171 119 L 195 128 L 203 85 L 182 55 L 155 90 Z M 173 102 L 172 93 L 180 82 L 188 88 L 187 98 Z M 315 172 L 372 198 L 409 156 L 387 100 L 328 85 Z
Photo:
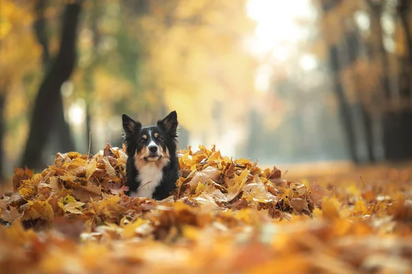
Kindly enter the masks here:
M 122 115 L 124 147 L 128 159 L 126 174 L 130 197 L 165 199 L 179 179 L 177 114 L 170 112 L 157 125 L 141 127 L 139 121 Z

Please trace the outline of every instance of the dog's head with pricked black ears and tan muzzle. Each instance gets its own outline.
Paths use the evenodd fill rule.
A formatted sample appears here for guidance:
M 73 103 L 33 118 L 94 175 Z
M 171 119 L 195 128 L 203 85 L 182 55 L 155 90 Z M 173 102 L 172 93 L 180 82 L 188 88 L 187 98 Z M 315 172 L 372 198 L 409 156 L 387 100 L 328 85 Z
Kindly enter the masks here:
M 141 127 L 139 121 L 123 114 L 124 145 L 128 156 L 134 155 L 137 166 L 148 162 L 161 165 L 170 162 L 170 155 L 176 153 L 177 114 L 170 112 L 157 125 Z

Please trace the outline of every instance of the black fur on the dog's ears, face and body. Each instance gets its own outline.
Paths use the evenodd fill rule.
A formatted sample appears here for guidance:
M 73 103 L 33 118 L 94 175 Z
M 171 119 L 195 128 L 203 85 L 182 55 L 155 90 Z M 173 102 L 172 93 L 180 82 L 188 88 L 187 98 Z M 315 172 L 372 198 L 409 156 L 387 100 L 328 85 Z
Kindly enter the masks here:
M 179 179 L 179 160 L 176 155 L 176 138 L 177 138 L 177 114 L 175 111 L 170 112 L 168 116 L 163 120 L 157 121 L 157 125 L 150 127 L 141 127 L 139 121 L 134 121 L 126 114 L 123 114 L 123 128 L 124 128 L 124 145 L 126 146 L 126 153 L 128 155 L 128 160 L 126 163 L 126 173 L 129 191 L 136 192 L 141 186 L 141 182 L 137 179 L 139 171 L 135 166 L 135 153 L 141 151 L 146 145 L 148 145 L 148 140 L 143 140 L 142 136 L 148 134 L 149 130 L 151 135 L 159 134 L 161 138 L 153 141 L 159 147 L 162 147 L 163 151 L 166 148 L 169 151 L 170 162 L 163 167 L 163 177 L 161 183 L 155 192 L 153 192 L 152 197 L 156 200 L 165 199 L 170 195 L 170 192 L 176 188 L 176 180 Z

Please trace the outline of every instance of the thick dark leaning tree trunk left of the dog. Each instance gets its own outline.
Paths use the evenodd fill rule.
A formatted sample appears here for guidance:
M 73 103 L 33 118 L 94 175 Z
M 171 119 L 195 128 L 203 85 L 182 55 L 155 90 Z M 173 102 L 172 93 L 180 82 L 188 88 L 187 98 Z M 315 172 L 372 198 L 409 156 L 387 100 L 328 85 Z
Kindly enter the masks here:
M 40 169 L 45 164 L 42 151 L 56 119 L 56 112 L 61 109 L 60 88 L 73 72 L 76 60 L 76 30 L 81 10 L 80 3 L 75 1 L 65 6 L 60 50 L 38 90 L 21 166 Z

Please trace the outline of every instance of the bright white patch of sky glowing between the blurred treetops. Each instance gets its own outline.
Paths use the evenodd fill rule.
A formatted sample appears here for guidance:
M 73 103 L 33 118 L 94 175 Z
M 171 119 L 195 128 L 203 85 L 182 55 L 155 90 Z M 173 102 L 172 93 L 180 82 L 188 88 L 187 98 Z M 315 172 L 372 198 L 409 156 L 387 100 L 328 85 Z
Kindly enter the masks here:
M 255 37 L 249 41 L 249 47 L 262 61 L 256 72 L 255 86 L 266 92 L 272 73 L 268 59 L 288 60 L 290 49 L 304 38 L 297 18 L 314 18 L 316 12 L 311 0 L 249 0 L 247 13 L 257 23 Z M 310 70 L 316 66 L 316 60 L 304 55 L 300 64 L 303 69 Z

